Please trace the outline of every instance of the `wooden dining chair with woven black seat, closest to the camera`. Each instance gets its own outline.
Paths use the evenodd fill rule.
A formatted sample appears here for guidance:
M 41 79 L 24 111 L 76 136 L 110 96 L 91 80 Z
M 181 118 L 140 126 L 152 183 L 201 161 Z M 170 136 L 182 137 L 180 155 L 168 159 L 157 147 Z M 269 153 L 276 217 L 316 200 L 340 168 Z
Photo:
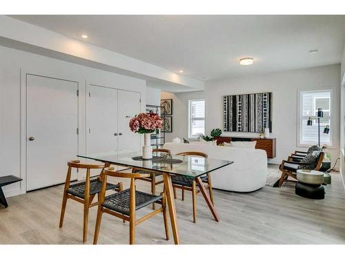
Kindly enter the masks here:
M 108 176 L 130 178 L 130 189 L 106 196 L 106 180 Z M 166 231 L 166 240 L 169 240 L 168 219 L 166 215 L 166 195 L 164 192 L 160 195 L 152 195 L 150 193 L 137 191 L 136 189 L 135 180 L 148 177 L 150 177 L 150 173 L 125 173 L 124 171 L 115 171 L 113 167 L 104 169 L 104 180 L 101 187 L 101 193 L 99 194 L 95 237 L 93 240 L 94 244 L 97 244 L 98 241 L 99 228 L 101 226 L 103 213 L 108 213 L 130 222 L 130 244 L 134 244 L 135 226 L 162 212 Z M 161 207 L 136 220 L 135 212 L 154 202 L 160 203 Z

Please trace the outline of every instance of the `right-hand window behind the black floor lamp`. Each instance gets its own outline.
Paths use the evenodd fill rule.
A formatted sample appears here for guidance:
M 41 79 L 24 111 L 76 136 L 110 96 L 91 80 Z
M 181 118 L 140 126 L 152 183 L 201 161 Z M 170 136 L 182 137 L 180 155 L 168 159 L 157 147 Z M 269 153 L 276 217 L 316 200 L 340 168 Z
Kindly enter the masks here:
M 331 146 L 331 130 L 329 134 L 324 134 L 324 128 L 326 125 L 331 127 L 332 90 L 301 91 L 299 98 L 299 144 L 318 144 L 318 121 L 314 119 L 312 126 L 308 126 L 307 121 L 309 117 L 316 117 L 317 109 L 322 108 L 324 117 L 320 118 L 320 144 Z

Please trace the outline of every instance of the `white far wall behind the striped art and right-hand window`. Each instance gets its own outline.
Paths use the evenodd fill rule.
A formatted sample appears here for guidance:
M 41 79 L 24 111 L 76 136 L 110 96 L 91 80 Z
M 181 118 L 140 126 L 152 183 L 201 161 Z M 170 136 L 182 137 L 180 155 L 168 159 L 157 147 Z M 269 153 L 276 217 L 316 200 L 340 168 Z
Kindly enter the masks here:
M 328 149 L 335 162 L 339 157 L 339 94 L 340 66 L 323 66 L 302 70 L 290 70 L 267 75 L 248 75 L 211 81 L 206 83 L 206 132 L 212 128 L 222 128 L 223 95 L 244 93 L 273 93 L 272 137 L 277 138 L 277 157 L 269 162 L 280 163 L 288 155 L 305 148 L 297 147 L 297 90 L 332 88 L 333 102 L 333 148 Z M 223 135 L 258 135 L 258 133 L 224 133 Z

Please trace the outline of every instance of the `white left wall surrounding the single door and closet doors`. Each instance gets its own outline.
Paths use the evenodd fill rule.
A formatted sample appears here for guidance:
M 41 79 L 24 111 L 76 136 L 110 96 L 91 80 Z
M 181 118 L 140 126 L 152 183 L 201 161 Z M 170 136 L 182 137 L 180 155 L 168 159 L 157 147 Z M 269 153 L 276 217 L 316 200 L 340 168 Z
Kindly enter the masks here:
M 86 86 L 105 85 L 141 94 L 145 111 L 146 81 L 104 72 L 66 61 L 34 55 L 0 46 L 0 176 L 16 175 L 25 179 L 21 148 L 21 84 L 25 73 L 77 81 L 79 84 L 79 153 L 86 152 Z M 77 155 L 77 154 L 76 154 Z M 44 157 L 43 157 L 44 158 Z M 73 157 L 71 157 L 73 158 Z M 24 160 L 25 161 L 25 160 Z M 64 173 L 64 172 L 61 172 Z M 23 193 L 25 181 L 6 186 L 6 195 Z

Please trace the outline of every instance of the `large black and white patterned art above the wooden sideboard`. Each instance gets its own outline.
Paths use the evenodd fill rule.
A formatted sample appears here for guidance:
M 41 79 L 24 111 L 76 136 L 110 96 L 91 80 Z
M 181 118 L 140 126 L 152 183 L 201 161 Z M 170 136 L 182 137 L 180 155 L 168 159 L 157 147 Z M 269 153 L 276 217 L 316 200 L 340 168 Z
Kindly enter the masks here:
M 272 93 L 223 96 L 224 131 L 272 132 Z

